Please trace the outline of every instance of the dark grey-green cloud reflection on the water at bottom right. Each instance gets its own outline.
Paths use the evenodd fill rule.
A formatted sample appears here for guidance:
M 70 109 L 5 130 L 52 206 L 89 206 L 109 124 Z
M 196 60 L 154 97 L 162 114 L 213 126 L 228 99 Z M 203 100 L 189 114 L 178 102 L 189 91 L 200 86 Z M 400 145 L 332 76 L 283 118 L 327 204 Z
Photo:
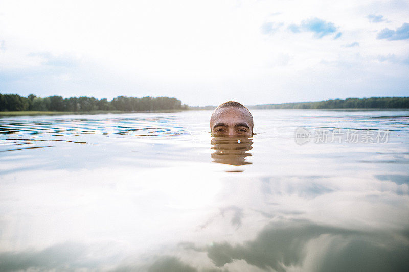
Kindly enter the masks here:
M 406 233 L 402 236 L 407 238 Z M 320 260 L 310 263 L 315 271 L 351 271 L 356 267 L 365 271 L 404 270 L 409 265 L 405 258 L 409 246 L 399 239 L 379 233 L 319 226 L 308 221 L 271 225 L 253 241 L 242 245 L 213 243 L 206 251 L 218 267 L 234 260 L 245 260 L 261 269 L 286 271 L 288 267 L 302 267 L 301 270 L 311 270 L 305 267 L 312 257 L 308 254 L 319 251 L 322 254 L 313 258 L 320 256 Z

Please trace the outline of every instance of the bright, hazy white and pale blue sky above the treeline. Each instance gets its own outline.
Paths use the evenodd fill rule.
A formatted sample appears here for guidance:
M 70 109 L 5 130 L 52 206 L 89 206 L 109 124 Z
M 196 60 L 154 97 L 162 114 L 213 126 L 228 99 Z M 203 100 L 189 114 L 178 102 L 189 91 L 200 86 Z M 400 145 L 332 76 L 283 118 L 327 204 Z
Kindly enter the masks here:
M 409 96 L 408 1 L 0 0 L 0 93 Z

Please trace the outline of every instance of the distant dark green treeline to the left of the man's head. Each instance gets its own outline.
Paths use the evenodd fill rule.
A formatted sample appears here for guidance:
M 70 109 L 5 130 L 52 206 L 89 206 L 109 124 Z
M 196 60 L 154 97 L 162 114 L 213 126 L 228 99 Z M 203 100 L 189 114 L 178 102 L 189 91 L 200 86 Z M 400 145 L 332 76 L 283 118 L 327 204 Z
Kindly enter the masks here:
M 149 110 L 182 110 L 187 109 L 180 100 L 170 97 L 127 97 L 118 96 L 108 101 L 94 97 L 81 96 L 62 98 L 49 96 L 46 98 L 30 94 L 28 97 L 18 94 L 0 94 L 0 111 L 149 111 Z

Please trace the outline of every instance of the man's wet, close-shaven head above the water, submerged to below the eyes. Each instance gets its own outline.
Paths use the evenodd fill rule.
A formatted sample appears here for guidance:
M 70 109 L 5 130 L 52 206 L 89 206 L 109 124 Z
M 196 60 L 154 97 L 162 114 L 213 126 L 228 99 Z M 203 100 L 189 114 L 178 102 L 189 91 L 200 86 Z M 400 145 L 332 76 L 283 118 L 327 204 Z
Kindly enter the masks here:
M 252 136 L 253 116 L 236 101 L 228 101 L 217 107 L 210 118 L 210 132 L 220 136 Z

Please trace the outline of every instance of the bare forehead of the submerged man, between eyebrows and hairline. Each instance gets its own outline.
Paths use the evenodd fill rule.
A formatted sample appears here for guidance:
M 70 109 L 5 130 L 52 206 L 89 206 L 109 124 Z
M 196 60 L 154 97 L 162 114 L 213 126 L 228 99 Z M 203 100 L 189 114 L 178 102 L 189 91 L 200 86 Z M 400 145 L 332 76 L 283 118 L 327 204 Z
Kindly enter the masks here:
M 225 107 L 217 109 L 212 114 L 211 126 L 217 123 L 225 123 L 228 126 L 234 126 L 237 123 L 246 123 L 251 127 L 252 117 L 246 109 L 237 107 Z

